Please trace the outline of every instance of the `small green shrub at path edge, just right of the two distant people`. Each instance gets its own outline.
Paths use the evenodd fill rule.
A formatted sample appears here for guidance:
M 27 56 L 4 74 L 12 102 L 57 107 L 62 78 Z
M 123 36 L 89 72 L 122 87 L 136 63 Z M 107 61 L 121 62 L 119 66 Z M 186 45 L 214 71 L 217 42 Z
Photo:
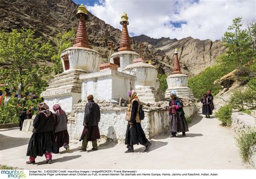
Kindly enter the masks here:
M 232 123 L 231 113 L 232 113 L 232 105 L 226 104 L 224 106 L 221 106 L 221 108 L 215 113 L 214 116 L 221 121 L 221 125 L 231 126 L 231 123 Z

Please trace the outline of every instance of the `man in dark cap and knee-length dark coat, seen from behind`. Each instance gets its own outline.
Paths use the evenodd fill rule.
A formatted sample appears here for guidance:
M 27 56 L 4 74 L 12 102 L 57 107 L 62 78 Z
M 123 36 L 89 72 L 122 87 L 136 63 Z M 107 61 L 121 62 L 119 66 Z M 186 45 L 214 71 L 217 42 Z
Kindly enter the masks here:
M 82 141 L 82 146 L 78 147 L 80 151 L 86 151 L 88 141 L 92 141 L 92 150 L 97 151 L 97 139 L 100 138 L 99 134 L 99 120 L 100 110 L 99 105 L 93 101 L 93 96 L 87 96 L 88 103 L 85 105 L 84 112 L 84 130 L 79 141 Z

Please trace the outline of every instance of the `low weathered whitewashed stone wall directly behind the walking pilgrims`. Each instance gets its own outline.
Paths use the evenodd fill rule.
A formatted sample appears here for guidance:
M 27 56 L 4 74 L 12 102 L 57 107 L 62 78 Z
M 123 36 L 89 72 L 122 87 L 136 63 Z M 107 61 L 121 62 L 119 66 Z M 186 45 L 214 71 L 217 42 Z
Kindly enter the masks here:
M 125 114 L 127 107 L 118 106 L 112 103 L 98 103 L 100 106 L 100 135 L 104 135 L 114 141 L 123 141 L 127 121 Z M 73 113 L 68 116 L 68 130 L 71 139 L 79 139 L 83 131 L 85 103 L 75 105 Z M 146 137 L 151 139 L 156 135 L 169 131 L 169 110 L 167 102 L 159 102 L 150 106 L 144 106 L 145 118 L 142 120 L 142 127 Z M 191 117 L 196 112 L 196 105 L 187 104 L 184 106 L 185 116 Z

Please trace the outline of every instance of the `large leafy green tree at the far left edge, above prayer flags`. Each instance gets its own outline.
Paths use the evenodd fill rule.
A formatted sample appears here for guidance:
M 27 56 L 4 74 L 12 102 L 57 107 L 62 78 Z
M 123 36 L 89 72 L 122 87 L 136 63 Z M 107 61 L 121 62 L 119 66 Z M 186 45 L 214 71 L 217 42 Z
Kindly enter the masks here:
M 42 44 L 30 28 L 0 32 L 0 63 L 6 65 L 0 69 L 0 82 L 13 87 L 18 94 L 24 90 L 42 92 L 50 70 L 40 63 L 49 61 L 53 52 L 52 45 Z

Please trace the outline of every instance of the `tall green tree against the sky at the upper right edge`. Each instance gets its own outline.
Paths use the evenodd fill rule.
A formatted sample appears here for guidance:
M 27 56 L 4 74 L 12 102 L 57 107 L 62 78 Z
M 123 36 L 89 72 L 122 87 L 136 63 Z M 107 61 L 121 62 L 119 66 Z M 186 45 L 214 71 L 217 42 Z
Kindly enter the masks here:
M 248 29 L 241 30 L 241 20 L 241 17 L 235 18 L 222 37 L 227 52 L 225 58 L 221 60 L 226 65 L 235 64 L 237 68 L 245 65 L 255 56 L 255 23 L 251 23 Z

